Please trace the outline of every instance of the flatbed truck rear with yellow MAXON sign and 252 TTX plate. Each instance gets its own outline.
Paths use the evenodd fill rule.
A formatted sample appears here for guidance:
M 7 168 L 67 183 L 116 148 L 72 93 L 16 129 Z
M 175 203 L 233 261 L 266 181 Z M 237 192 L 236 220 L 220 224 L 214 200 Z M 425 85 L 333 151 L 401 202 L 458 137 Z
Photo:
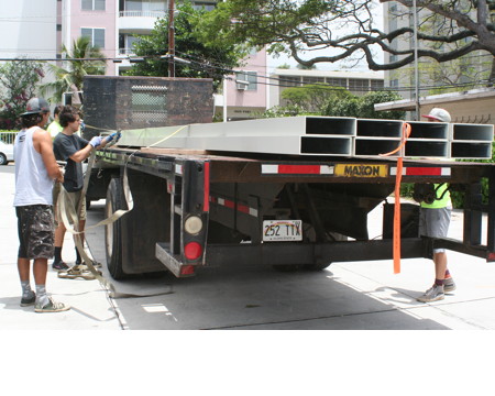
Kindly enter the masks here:
M 465 205 L 462 240 L 419 237 L 418 206 L 403 205 L 400 256 L 431 257 L 433 248 L 446 248 L 494 261 L 495 166 L 433 160 L 403 166 L 402 183 L 448 183 L 465 194 Z M 397 158 L 112 147 L 97 153 L 94 173 L 92 190 L 106 188 L 107 217 L 127 209 L 124 177 L 133 197 L 133 209 L 106 228 L 107 265 L 117 279 L 166 270 L 187 277 L 201 266 L 240 263 L 322 270 L 393 258 L 391 211 L 382 239 L 369 238 L 367 215 L 394 191 Z

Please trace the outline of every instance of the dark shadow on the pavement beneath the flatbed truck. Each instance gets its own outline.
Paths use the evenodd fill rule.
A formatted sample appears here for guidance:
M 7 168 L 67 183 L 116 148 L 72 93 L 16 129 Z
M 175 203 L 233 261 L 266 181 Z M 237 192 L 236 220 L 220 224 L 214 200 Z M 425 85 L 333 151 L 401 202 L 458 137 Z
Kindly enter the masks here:
M 102 216 L 102 208 L 94 206 L 88 222 L 96 223 Z M 253 263 L 201 267 L 193 278 L 177 279 L 167 273 L 117 282 L 105 265 L 103 229 L 92 231 L 87 234 L 91 253 L 103 263 L 103 275 L 116 289 L 154 295 L 114 300 L 127 329 L 448 329 L 394 301 L 381 301 L 332 279 L 331 266 L 320 272 L 282 273 Z M 155 295 L 161 292 L 172 294 Z

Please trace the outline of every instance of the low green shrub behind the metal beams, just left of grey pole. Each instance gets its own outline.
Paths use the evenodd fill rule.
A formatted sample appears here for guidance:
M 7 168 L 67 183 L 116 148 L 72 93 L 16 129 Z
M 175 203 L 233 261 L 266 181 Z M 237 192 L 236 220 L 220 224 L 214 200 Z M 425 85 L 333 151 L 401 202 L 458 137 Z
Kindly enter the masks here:
M 348 98 L 332 98 L 324 110 L 324 116 L 356 117 L 381 120 L 403 120 L 405 111 L 375 111 L 374 105 L 402 99 L 396 92 L 372 91 L 362 97 L 351 95 Z

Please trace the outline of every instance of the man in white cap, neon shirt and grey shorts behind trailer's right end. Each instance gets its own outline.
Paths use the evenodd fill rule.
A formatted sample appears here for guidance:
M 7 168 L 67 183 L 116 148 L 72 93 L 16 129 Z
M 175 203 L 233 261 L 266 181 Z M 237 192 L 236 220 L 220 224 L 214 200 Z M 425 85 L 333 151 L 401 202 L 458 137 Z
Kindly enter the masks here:
M 428 116 L 422 116 L 430 122 L 450 122 L 450 113 L 444 109 L 435 108 Z M 435 184 L 436 199 L 431 204 L 422 201 L 419 211 L 419 234 L 431 238 L 444 238 L 449 231 L 452 202 L 446 183 Z M 437 301 L 444 298 L 446 293 L 455 290 L 455 283 L 447 267 L 444 249 L 433 249 L 435 283 L 425 294 L 417 298 L 421 302 Z

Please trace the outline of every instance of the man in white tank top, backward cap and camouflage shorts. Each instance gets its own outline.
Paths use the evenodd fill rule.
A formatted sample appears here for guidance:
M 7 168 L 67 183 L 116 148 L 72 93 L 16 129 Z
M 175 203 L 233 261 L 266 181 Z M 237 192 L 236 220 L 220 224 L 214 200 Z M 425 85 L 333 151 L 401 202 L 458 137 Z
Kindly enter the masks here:
M 52 189 L 54 180 L 64 176 L 55 161 L 52 139 L 43 130 L 50 117 L 48 102 L 43 98 L 28 101 L 21 114 L 22 130 L 15 136 L 15 195 L 13 206 L 18 217 L 18 270 L 21 279 L 21 307 L 34 305 L 35 312 L 59 312 L 70 307 L 56 302 L 46 294 L 48 258 L 54 253 L 54 220 Z M 33 260 L 34 293 L 30 284 Z

